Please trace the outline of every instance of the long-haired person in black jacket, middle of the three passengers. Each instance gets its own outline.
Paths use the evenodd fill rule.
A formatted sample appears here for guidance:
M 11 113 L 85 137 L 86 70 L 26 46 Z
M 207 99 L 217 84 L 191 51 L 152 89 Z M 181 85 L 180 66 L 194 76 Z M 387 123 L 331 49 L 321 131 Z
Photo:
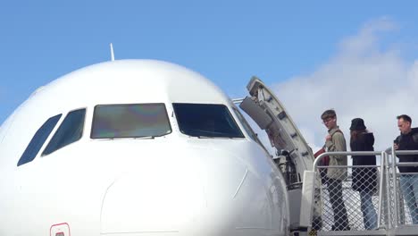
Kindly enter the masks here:
M 353 119 L 350 127 L 351 151 L 374 151 L 373 145 L 373 133 L 366 130 L 364 120 L 361 118 Z M 353 190 L 360 193 L 364 228 L 372 230 L 377 227 L 377 214 L 372 203 L 372 196 L 377 188 L 377 170 L 376 167 L 365 167 L 363 165 L 376 165 L 376 156 L 352 157 L 352 187 Z

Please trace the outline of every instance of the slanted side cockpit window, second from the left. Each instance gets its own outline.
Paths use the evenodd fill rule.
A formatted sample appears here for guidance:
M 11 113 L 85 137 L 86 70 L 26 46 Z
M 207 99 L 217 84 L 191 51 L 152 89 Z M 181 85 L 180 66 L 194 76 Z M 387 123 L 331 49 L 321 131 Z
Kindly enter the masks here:
M 53 138 L 49 141 L 48 146 L 45 147 L 42 156 L 46 156 L 81 139 L 85 116 L 86 109 L 75 110 L 67 114 Z

